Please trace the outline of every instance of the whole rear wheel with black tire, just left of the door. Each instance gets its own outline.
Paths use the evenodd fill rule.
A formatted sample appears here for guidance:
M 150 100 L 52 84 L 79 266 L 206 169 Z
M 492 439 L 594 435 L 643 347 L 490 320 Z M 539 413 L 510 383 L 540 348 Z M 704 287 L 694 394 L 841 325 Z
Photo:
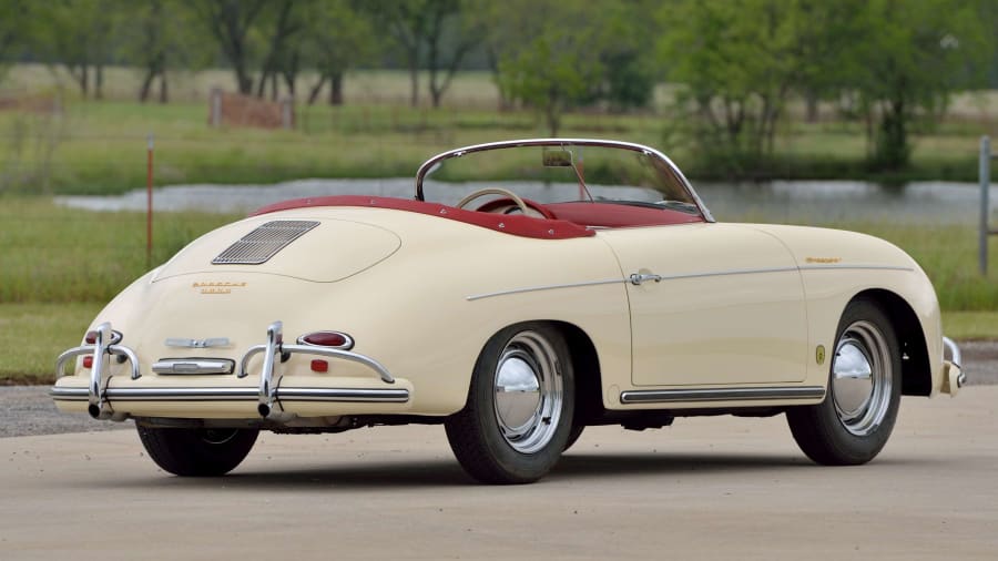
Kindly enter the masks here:
M 558 462 L 572 428 L 568 345 L 544 324 L 499 332 L 475 364 L 465 409 L 445 422 L 461 467 L 485 483 L 529 483 Z

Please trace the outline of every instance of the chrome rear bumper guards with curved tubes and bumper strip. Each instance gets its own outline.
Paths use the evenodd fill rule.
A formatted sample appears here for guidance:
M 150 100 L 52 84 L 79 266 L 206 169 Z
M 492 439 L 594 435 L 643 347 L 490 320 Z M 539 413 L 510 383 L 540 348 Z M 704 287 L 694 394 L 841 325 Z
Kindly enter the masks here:
M 96 340 L 93 345 L 83 345 L 65 350 L 55 361 L 57 378 L 65 376 L 65 363 L 70 358 L 81 355 L 92 355 L 93 364 L 90 369 L 90 384 L 83 388 L 53 387 L 51 396 L 54 399 L 89 401 L 88 411 L 95 419 L 110 419 L 113 416 L 111 408 L 105 407 L 110 399 L 129 401 L 244 401 L 256 399 L 257 411 L 261 417 L 268 417 L 274 406 L 283 398 L 297 401 L 373 401 L 373 402 L 407 402 L 409 390 L 399 389 L 360 389 L 360 388 L 278 388 L 274 370 L 278 360 L 287 360 L 291 355 L 314 355 L 327 358 L 338 358 L 358 363 L 374 370 L 385 384 L 395 384 L 395 378 L 377 360 L 352 353 L 348 350 L 315 347 L 310 345 L 284 345 L 283 323 L 274 322 L 267 327 L 267 343 L 251 347 L 240 360 L 237 378 L 249 375 L 249 359 L 263 353 L 264 364 L 259 373 L 259 387 L 256 390 L 249 388 L 108 388 L 111 378 L 106 373 L 105 358 L 121 357 L 131 364 L 131 377 L 136 380 L 139 373 L 139 358 L 135 353 L 122 345 L 112 345 L 111 324 L 104 323 L 96 328 Z M 175 371 L 171 374 L 177 374 Z

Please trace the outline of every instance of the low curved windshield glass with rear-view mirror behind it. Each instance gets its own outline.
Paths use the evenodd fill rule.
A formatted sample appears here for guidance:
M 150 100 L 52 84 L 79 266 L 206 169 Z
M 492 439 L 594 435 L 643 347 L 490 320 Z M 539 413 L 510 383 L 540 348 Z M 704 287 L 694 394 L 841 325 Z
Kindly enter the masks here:
M 429 167 L 425 201 L 452 205 L 469 193 L 499 187 L 538 203 L 610 202 L 701 214 L 682 177 L 651 152 L 559 143 L 459 154 Z

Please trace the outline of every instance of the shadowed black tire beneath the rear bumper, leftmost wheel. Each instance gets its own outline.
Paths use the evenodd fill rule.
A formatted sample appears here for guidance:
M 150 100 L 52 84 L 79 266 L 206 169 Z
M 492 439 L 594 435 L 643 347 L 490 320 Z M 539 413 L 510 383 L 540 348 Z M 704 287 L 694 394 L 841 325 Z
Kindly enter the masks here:
M 183 477 L 228 473 L 249 453 L 257 429 L 183 429 L 136 425 L 139 439 L 163 470 Z

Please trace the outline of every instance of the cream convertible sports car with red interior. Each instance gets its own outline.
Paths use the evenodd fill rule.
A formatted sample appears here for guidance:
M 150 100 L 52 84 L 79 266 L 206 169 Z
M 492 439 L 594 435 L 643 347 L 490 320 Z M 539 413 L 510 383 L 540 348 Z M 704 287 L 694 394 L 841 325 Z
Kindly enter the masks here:
M 897 247 L 721 224 L 654 149 L 538 139 L 434 156 L 413 200 L 202 236 L 100 313 L 52 397 L 134 419 L 179 476 L 228 472 L 259 430 L 442 424 L 473 478 L 518 483 L 587 426 L 717 414 L 785 414 L 814 461 L 863 463 L 902 395 L 957 392 L 959 356 Z

